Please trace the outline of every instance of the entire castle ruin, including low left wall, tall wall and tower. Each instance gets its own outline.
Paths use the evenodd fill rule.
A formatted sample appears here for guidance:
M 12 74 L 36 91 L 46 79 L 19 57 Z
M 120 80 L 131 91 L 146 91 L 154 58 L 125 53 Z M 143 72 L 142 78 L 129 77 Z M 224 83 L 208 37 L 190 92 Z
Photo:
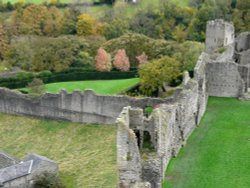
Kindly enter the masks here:
M 0 89 L 0 112 L 73 122 L 117 125 L 119 187 L 161 188 L 177 156 L 205 113 L 208 96 L 248 98 L 250 32 L 235 38 L 223 20 L 207 23 L 206 48 L 194 69 L 166 99 L 102 96 L 92 91 L 45 94 L 34 100 Z M 149 117 L 143 109 L 154 107 Z

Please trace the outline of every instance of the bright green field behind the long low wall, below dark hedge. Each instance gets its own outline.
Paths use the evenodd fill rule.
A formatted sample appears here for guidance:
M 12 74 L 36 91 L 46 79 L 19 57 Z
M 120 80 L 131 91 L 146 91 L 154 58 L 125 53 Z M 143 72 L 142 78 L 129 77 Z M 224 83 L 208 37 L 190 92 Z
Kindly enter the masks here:
M 49 93 L 58 93 L 62 89 L 72 92 L 74 90 L 92 89 L 97 94 L 113 95 L 126 91 L 128 88 L 139 82 L 139 78 L 123 80 L 95 80 L 95 81 L 74 81 L 46 84 L 46 91 Z M 21 89 L 26 90 L 27 89 Z

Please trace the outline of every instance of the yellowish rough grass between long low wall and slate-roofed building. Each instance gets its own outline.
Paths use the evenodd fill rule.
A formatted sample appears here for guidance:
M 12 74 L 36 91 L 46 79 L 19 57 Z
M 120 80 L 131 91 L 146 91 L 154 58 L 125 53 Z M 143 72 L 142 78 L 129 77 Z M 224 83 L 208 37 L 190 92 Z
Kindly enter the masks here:
M 116 187 L 116 128 L 0 114 L 0 150 L 55 160 L 67 188 Z

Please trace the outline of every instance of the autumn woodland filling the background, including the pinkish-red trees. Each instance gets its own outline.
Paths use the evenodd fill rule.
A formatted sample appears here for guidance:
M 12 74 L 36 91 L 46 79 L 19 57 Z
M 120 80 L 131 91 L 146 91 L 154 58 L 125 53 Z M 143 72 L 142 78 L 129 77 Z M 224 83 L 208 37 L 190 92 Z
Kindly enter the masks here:
M 102 9 L 103 3 L 110 5 Z M 137 8 L 121 0 L 98 1 L 88 5 L 99 6 L 95 14 L 86 5 L 59 1 L 0 1 L 0 71 L 139 69 L 142 90 L 150 95 L 193 70 L 208 20 L 232 21 L 236 33 L 250 30 L 250 0 L 152 3 Z

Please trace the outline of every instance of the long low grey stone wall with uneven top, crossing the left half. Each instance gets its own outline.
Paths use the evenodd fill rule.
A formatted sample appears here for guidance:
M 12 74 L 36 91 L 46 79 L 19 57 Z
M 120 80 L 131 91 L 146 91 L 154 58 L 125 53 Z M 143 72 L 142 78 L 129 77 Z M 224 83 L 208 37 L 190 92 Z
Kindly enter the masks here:
M 112 124 L 124 106 L 144 108 L 163 103 L 156 98 L 96 95 L 91 90 L 45 94 L 31 99 L 17 91 L 0 88 L 0 112 L 30 115 L 73 122 Z

